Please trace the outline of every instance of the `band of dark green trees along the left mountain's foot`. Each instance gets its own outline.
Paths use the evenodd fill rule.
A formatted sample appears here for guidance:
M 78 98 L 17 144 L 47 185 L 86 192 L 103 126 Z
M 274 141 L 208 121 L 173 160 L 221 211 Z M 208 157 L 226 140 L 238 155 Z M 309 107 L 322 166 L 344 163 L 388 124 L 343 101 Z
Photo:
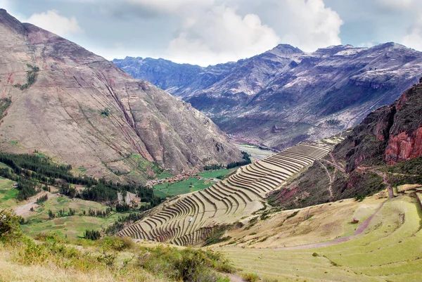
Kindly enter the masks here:
M 30 154 L 0 153 L 0 162 L 11 167 L 1 168 L 0 175 L 7 179 L 18 181 L 20 193 L 19 200 L 26 200 L 41 191 L 41 185 L 55 186 L 60 193 L 70 197 L 80 197 L 84 200 L 96 202 L 115 202 L 117 192 L 129 191 L 137 193 L 143 202 L 151 207 L 158 205 L 162 199 L 154 196 L 153 189 L 133 184 L 120 184 L 106 179 L 95 179 L 89 176 L 74 176 L 70 173 L 70 165 L 57 165 L 49 158 Z M 70 184 L 83 185 L 87 188 L 82 193 L 77 193 Z M 44 187 L 45 187 L 44 186 Z M 44 188 L 43 187 L 43 188 Z M 47 187 L 48 188 L 48 187 Z

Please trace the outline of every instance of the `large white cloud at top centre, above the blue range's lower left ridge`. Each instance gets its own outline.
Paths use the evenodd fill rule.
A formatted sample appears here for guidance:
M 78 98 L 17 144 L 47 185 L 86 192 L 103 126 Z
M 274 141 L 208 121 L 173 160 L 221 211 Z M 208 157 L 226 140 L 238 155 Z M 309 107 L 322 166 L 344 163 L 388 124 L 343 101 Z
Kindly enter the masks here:
M 276 32 L 257 15 L 241 16 L 221 5 L 186 16 L 167 56 L 176 62 L 210 65 L 254 56 L 279 42 Z

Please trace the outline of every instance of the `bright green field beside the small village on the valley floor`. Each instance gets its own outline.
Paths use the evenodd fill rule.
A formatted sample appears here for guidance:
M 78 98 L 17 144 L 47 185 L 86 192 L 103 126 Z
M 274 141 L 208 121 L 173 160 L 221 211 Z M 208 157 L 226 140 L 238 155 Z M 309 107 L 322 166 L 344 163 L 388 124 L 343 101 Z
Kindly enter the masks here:
M 191 177 L 185 181 L 179 181 L 174 184 L 165 183 L 157 184 L 153 186 L 154 193 L 156 196 L 168 197 L 168 196 L 177 196 L 182 194 L 191 193 L 194 191 L 199 191 L 210 187 L 212 184 L 215 184 L 213 181 L 207 181 L 205 179 L 196 179 Z

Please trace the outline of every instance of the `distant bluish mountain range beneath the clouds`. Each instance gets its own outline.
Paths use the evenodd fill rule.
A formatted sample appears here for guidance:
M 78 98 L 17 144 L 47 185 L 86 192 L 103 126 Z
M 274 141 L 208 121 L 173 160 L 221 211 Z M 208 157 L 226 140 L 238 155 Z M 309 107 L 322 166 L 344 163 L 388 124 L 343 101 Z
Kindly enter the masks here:
M 274 148 L 358 124 L 395 101 L 422 73 L 422 53 L 395 43 L 314 53 L 281 44 L 207 68 L 151 58 L 113 63 L 183 98 L 235 139 Z

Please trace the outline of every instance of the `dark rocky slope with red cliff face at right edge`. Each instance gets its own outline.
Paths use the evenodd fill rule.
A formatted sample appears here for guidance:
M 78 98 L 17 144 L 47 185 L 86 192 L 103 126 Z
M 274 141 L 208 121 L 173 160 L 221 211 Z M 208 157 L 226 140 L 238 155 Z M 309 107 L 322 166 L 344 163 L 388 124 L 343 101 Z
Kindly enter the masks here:
M 271 200 L 283 207 L 306 207 L 363 198 L 402 184 L 422 184 L 422 79 L 395 103 L 365 117 L 328 157 Z

